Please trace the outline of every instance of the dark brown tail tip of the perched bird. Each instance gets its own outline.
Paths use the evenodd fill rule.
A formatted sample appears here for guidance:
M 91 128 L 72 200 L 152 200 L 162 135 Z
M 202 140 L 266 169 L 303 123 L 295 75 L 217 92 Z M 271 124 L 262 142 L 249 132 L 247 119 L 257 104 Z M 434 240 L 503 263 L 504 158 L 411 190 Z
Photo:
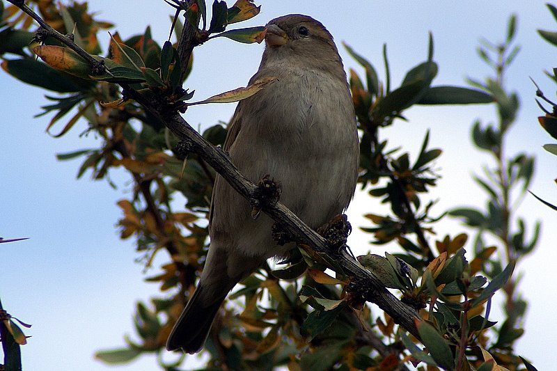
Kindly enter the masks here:
M 226 298 L 226 294 L 219 298 L 207 298 L 205 294 L 207 292 L 204 293 L 203 286 L 199 285 L 168 336 L 167 350 L 182 348 L 184 352 L 194 354 L 203 348 L 214 316 Z

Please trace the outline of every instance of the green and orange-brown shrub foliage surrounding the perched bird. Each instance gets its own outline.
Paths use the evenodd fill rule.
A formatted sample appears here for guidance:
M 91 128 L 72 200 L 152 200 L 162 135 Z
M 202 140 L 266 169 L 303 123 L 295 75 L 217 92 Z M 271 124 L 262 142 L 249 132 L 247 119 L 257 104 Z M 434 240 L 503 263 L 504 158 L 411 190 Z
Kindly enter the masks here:
M 126 347 L 100 351 L 96 357 L 106 363 L 125 363 L 145 354 L 159 355 L 203 267 L 215 173 L 197 155 L 190 154 L 185 161 L 177 149 L 178 139 L 141 104 L 129 100 L 127 92 L 133 89 L 160 106 L 187 113 L 192 104 L 244 99 L 272 81 L 256 81 L 253 86 L 191 103 L 193 91 L 182 88 L 182 84 L 187 83 L 192 60 L 187 65 L 180 62 L 179 45 L 166 41 L 161 46 L 147 27 L 127 40 L 114 33 L 107 56 L 100 56 L 97 31 L 111 24 L 95 19 L 86 3 L 29 3 L 54 29 L 72 34 L 86 54 L 77 54 L 52 35 L 45 37 L 44 28 L 39 33 L 26 31 L 31 26 L 29 17 L 12 5 L 1 9 L 3 69 L 27 84 L 56 94 L 48 96 L 53 104 L 42 107 L 41 115 L 54 114 L 48 132 L 72 112 L 72 118 L 54 136 L 63 136 L 85 122 L 85 131 L 102 139 L 99 148 L 65 153 L 58 159 L 81 158 L 77 177 L 91 171 L 93 179 L 106 179 L 112 187 L 116 184 L 110 180 L 110 171 L 121 167 L 130 173 L 134 194 L 118 202 L 123 213 L 118 223 L 120 237 L 136 239 L 146 267 L 159 251 L 168 253 L 168 262 L 159 274 L 146 278 L 160 285 L 160 296 L 136 306 L 134 324 L 140 342 L 126 338 Z M 184 13 L 194 26 L 196 45 L 216 37 L 258 42 L 265 34 L 263 27 L 226 30 L 228 25 L 259 13 L 259 7 L 249 0 L 238 0 L 230 8 L 225 1 L 214 0 L 210 19 L 203 0 L 167 3 L 176 10 L 172 27 L 177 35 L 184 27 L 178 15 Z M 485 84 L 474 83 L 476 88 L 432 86 L 437 74 L 432 35 L 426 60 L 411 68 L 394 89 L 386 47 L 383 82 L 372 63 L 345 45 L 365 71 L 361 79 L 350 70 L 350 89 L 361 133 L 359 183 L 371 197 L 391 208 L 388 215 L 367 214 L 373 226 L 364 230 L 373 234 L 374 244 L 396 242 L 402 248 L 402 253 L 386 253 L 384 257 L 368 254 L 359 261 L 385 287 L 400 292 L 402 303 L 419 311 L 424 321 L 416 322 L 416 326 L 425 348 L 416 345 L 418 339 L 395 325 L 391 317 L 374 314 L 370 306 L 359 303 L 353 296 L 352 282 L 334 260 L 299 246 L 285 262 L 288 265 L 275 270 L 264 265 L 229 296 L 205 345 L 210 357 L 207 369 L 271 370 L 288 365 L 291 370 L 394 370 L 405 369 L 406 362 L 423 370 L 491 370 L 497 364 L 513 370 L 518 367 L 521 360 L 512 354 L 512 343 L 521 335 L 517 326 L 525 302 L 515 296 L 517 282 L 512 272 L 517 260 L 532 251 L 537 232 L 525 243 L 526 226 L 521 219 L 517 219 L 517 232 L 510 232 L 511 211 L 515 210 L 510 189 L 520 183 L 524 193 L 533 173 L 532 157 L 519 154 L 506 159 L 503 155 L 503 139 L 518 109 L 516 95 L 506 93 L 502 83 L 503 70 L 517 52 L 513 49 L 505 54 L 514 34 L 512 17 L 506 42 L 496 48 L 502 49 L 495 65 L 500 74 Z M 492 63 L 487 51 L 480 49 L 480 55 Z M 473 132 L 478 147 L 492 153 L 497 162 L 496 168 L 487 169 L 487 180 L 477 178 L 489 194 L 489 210 L 461 208 L 452 212 L 465 219 L 469 230 L 478 229 L 475 254 L 469 261 L 464 250 L 466 233 L 455 232 L 452 237 L 435 240 L 435 249 L 430 244 L 435 239 L 433 226 L 444 213 L 432 216 L 434 202 L 423 201 L 439 178 L 433 163 L 441 150 L 429 148 L 429 132 L 412 160 L 409 153 L 389 148 L 380 135 L 384 127 L 405 120 L 405 111 L 415 104 L 491 102 L 499 110 L 499 126 L 482 129 L 478 123 Z M 203 136 L 221 145 L 226 126 L 214 125 Z M 173 200 L 179 195 L 187 200 L 185 210 L 175 210 Z M 499 238 L 501 246 L 485 246 L 483 235 L 487 232 Z M 498 248 L 507 253 L 504 261 L 492 258 Z M 325 271 L 327 268 L 335 271 L 334 276 Z M 508 318 L 496 330 L 497 340 L 490 342 L 496 328 L 496 322 L 489 320 L 491 298 L 501 288 L 507 294 Z M 238 308 L 242 312 L 234 315 Z M 161 368 L 177 370 L 184 358 L 166 363 L 158 356 L 157 361 Z

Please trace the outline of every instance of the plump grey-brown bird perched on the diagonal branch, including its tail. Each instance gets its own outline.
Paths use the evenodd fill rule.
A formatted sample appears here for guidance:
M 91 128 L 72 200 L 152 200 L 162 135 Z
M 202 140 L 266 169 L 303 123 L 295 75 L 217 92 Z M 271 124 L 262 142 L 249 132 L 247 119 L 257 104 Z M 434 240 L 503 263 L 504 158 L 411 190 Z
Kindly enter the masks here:
M 350 88 L 333 37 L 320 22 L 292 14 L 266 27 L 265 50 L 249 83 L 276 81 L 237 104 L 223 150 L 249 180 L 277 180 L 281 203 L 317 229 L 346 210 L 356 188 L 359 139 Z M 168 336 L 168 351 L 201 351 L 236 283 L 295 246 L 279 246 L 274 221 L 265 214 L 254 220 L 251 209 L 217 175 L 205 266 Z

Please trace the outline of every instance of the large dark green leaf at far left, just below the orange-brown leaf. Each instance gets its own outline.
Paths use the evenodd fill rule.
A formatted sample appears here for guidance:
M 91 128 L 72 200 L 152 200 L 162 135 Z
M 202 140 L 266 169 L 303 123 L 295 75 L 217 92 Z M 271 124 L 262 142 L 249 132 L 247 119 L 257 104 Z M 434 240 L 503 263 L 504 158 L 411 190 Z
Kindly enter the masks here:
M 81 90 L 80 86 L 68 79 L 68 74 L 34 59 L 6 59 L 1 63 L 3 70 L 26 84 L 40 86 L 58 93 L 72 93 Z

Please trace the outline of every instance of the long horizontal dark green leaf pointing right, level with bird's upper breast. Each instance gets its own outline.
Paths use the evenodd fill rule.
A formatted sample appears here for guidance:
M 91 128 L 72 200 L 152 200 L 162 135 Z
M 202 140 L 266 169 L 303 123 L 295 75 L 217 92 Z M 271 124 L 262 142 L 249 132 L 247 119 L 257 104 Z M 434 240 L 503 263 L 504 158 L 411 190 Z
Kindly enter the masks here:
M 484 104 L 494 99 L 481 90 L 461 86 L 433 86 L 416 104 Z

